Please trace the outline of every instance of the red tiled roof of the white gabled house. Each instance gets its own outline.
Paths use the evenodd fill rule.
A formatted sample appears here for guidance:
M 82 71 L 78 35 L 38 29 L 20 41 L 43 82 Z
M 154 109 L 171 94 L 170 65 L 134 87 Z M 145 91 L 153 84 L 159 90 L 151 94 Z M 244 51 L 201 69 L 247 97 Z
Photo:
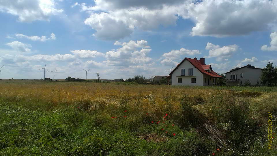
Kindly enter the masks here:
M 211 67 L 211 65 L 206 65 L 206 64 L 201 64 L 200 60 L 196 60 L 196 59 L 191 59 L 191 58 L 184 58 L 183 61 L 181 61 L 172 71 L 171 73 L 169 73 L 169 75 L 171 75 L 185 60 L 188 60 L 188 62 L 190 62 L 195 68 L 197 68 L 201 73 L 212 76 L 212 77 L 221 77 L 220 75 L 218 75 L 216 72 L 214 72 L 214 70 L 211 70 L 211 72 L 207 72 L 206 70 L 209 69 L 209 67 Z

